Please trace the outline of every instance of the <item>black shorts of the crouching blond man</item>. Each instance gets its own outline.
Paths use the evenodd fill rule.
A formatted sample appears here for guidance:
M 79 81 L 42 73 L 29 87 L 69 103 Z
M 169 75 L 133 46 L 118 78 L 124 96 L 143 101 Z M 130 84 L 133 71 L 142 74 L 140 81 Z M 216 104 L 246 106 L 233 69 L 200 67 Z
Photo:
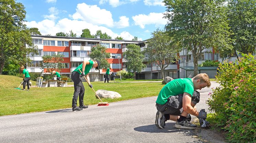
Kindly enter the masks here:
M 156 103 L 156 109 L 163 114 L 180 115 L 183 111 L 182 109 L 182 98 L 183 94 L 177 96 L 170 96 L 165 104 Z M 200 101 L 200 93 L 194 90 L 193 96 L 191 98 L 191 103 L 197 104 Z

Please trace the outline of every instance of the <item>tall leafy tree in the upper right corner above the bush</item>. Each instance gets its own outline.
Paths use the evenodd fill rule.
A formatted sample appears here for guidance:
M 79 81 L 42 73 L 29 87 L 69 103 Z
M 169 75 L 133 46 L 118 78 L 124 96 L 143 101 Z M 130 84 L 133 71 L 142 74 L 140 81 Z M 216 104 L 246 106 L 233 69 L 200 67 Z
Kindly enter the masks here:
M 242 53 L 253 53 L 256 49 L 256 1 L 255 0 L 230 0 L 229 26 L 234 33 L 234 54 L 236 51 Z M 256 52 L 256 51 L 255 51 Z

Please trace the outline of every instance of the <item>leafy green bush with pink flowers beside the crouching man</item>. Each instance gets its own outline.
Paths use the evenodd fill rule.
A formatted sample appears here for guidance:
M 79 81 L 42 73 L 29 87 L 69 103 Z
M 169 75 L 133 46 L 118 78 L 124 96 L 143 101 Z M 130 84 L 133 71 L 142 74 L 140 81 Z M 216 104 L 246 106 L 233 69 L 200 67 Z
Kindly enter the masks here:
M 251 54 L 242 56 L 235 63 L 219 65 L 220 86 L 208 100 L 216 125 L 228 131 L 226 139 L 231 142 L 256 140 L 256 59 Z

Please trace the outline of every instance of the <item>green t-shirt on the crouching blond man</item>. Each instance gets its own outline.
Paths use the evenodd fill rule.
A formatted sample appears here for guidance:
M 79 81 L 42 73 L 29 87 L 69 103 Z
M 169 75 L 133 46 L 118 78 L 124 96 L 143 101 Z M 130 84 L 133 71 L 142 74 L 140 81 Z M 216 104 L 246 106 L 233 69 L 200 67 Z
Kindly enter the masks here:
M 187 92 L 193 96 L 194 85 L 191 78 L 178 78 L 168 82 L 159 92 L 156 103 L 165 104 L 168 97 L 183 94 Z

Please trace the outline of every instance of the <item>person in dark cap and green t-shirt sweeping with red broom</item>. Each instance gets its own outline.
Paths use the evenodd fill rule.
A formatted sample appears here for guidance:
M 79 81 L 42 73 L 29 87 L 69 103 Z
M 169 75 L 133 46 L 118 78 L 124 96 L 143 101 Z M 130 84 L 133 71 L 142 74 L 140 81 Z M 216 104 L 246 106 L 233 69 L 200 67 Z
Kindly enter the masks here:
M 89 86 L 92 88 L 92 84 L 90 83 L 90 77 L 89 72 L 91 68 L 98 69 L 98 66 L 100 66 L 100 61 L 98 60 L 84 60 L 81 65 L 79 65 L 71 74 L 71 79 L 74 82 L 74 95 L 72 99 L 72 110 L 73 111 L 81 111 L 84 108 L 88 108 L 88 106 L 85 106 L 83 103 L 83 97 L 84 97 L 84 86 L 82 83 L 81 78 L 85 75 L 85 78 L 89 82 Z M 80 73 L 79 69 L 82 71 Z M 79 107 L 77 107 L 77 99 L 79 96 Z

